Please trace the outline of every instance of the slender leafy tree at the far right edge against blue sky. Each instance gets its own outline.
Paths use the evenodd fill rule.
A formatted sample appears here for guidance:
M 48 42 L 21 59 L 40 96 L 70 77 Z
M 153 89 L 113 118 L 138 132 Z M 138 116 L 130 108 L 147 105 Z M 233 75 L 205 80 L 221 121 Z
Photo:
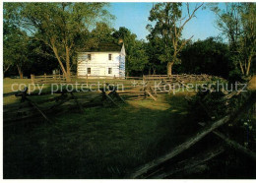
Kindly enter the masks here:
M 250 74 L 256 46 L 256 5 L 254 3 L 225 3 L 221 9 L 211 4 L 217 15 L 217 26 L 229 42 L 229 51 L 235 67 L 243 76 Z

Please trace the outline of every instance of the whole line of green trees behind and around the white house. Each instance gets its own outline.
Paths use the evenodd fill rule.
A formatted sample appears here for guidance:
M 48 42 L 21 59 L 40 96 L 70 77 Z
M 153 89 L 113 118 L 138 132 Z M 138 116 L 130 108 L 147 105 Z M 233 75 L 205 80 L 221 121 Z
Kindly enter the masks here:
M 126 75 L 210 74 L 226 79 L 256 72 L 254 3 L 157 3 L 150 12 L 147 41 L 124 27 L 115 30 L 107 3 L 4 3 L 4 76 L 30 76 L 59 69 L 70 80 L 76 52 L 100 42 L 126 49 Z M 184 12 L 184 7 L 186 12 Z M 222 37 L 182 38 L 186 24 L 201 9 L 217 15 Z M 224 41 L 224 40 L 227 41 Z

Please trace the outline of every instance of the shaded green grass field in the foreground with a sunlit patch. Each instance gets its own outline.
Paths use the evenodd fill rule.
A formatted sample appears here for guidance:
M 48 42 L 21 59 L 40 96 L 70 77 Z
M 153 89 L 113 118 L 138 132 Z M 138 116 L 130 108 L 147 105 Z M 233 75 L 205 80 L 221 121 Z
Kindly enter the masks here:
M 4 80 L 4 92 L 16 82 L 30 80 Z M 158 101 L 128 99 L 120 108 L 53 115 L 52 124 L 34 119 L 6 127 L 4 177 L 122 178 L 185 139 L 184 129 L 176 127 L 186 121 L 186 94 L 161 94 Z M 4 108 L 14 102 L 20 102 L 16 96 L 5 97 Z

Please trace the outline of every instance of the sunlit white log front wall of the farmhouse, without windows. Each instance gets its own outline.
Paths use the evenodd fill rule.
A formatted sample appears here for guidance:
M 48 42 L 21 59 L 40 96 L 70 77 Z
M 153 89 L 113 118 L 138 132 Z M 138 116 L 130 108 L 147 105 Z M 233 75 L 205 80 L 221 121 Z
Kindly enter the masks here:
M 88 59 L 91 54 L 91 60 Z M 112 54 L 112 60 L 108 60 L 108 54 Z M 78 76 L 116 76 L 119 77 L 119 52 L 80 52 L 78 53 Z M 87 73 L 91 68 L 91 74 Z M 112 68 L 112 74 L 108 74 L 108 68 Z

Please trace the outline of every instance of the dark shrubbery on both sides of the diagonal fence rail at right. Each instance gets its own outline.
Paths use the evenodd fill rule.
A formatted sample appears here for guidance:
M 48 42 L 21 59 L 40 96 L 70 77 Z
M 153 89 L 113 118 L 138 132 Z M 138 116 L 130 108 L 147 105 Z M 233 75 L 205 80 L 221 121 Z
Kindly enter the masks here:
M 231 89 L 230 86 L 228 86 Z M 242 91 L 238 95 L 231 98 L 224 98 L 223 91 L 217 90 L 216 86 L 212 86 L 211 91 L 201 89 L 194 97 L 192 97 L 188 111 L 191 123 L 199 126 L 199 122 L 212 123 L 226 115 L 233 115 L 238 112 L 239 108 L 245 104 L 251 91 Z M 239 90 L 239 89 L 238 89 Z M 231 140 L 238 142 L 240 145 L 255 151 L 256 145 L 256 125 L 255 125 L 255 106 L 248 111 L 241 113 L 239 119 L 229 121 L 227 125 L 222 127 L 221 131 Z

